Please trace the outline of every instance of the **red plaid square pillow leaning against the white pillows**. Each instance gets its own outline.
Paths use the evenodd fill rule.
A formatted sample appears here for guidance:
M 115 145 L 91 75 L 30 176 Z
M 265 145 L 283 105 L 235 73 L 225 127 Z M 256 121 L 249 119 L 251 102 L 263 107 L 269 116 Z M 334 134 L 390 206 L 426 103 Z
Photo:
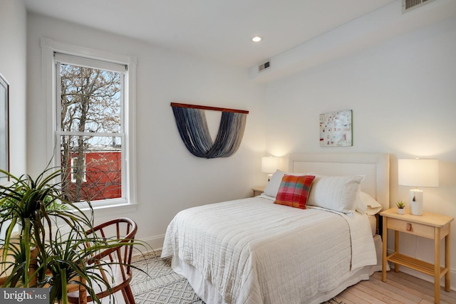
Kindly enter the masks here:
M 314 179 L 314 175 L 296 177 L 285 174 L 282 177 L 274 204 L 306 209 L 307 197 Z

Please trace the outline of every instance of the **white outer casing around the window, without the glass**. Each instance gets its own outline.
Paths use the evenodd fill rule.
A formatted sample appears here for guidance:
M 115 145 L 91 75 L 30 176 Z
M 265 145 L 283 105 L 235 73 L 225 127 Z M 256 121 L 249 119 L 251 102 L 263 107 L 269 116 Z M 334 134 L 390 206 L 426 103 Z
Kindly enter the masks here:
M 136 63 L 137 59 L 133 56 L 123 56 L 106 51 L 98 51 L 81 46 L 73 46 L 68 43 L 53 41 L 48 38 L 41 38 L 41 71 L 43 98 L 46 100 L 46 157 L 53 159 L 53 165 L 60 166 L 60 139 L 57 138 L 56 111 L 58 107 L 56 92 L 56 63 L 54 53 L 66 56 L 76 56 L 82 61 L 97 61 L 125 65 L 125 86 L 124 86 L 124 132 L 125 142 L 123 142 L 123 153 L 125 155 L 125 170 L 123 167 L 123 199 L 105 199 L 92 202 L 92 207 L 96 209 L 106 209 L 115 207 L 135 210 L 136 201 L 136 162 L 135 162 L 135 105 L 136 105 Z M 59 104 L 60 105 L 60 104 Z M 60 107 L 59 107 L 60 108 Z M 86 203 L 78 203 L 80 208 L 88 208 Z M 133 209 L 132 209 L 133 208 Z

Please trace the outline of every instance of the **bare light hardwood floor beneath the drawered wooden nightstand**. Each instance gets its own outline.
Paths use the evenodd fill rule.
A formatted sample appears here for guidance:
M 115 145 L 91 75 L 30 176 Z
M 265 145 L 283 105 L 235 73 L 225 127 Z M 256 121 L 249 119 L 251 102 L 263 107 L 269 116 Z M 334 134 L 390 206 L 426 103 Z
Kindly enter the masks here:
M 382 273 L 376 272 L 369 281 L 361 281 L 353 285 L 337 298 L 346 304 L 365 303 L 434 303 L 434 284 L 407 273 L 388 271 L 386 282 L 382 282 Z M 440 288 L 440 303 L 456 303 L 456 291 L 449 293 Z

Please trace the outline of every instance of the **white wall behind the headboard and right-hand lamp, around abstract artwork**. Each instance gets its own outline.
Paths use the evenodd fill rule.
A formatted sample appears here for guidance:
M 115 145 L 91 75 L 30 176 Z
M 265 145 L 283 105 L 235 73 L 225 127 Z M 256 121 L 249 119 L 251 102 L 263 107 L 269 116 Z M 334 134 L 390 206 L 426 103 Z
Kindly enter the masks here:
M 440 187 L 425 189 L 425 211 L 456 217 L 455 54 L 453 14 L 450 19 L 269 83 L 266 150 L 276 155 L 390 153 L 391 206 L 398 199 L 408 201 L 408 187 L 398 186 L 398 158 L 440 159 Z M 353 110 L 353 147 L 319 147 L 318 115 L 349 109 Z M 456 234 L 455 222 L 452 234 Z M 432 241 L 401 238 L 403 253 L 433 261 Z M 455 288 L 455 238 L 452 261 Z

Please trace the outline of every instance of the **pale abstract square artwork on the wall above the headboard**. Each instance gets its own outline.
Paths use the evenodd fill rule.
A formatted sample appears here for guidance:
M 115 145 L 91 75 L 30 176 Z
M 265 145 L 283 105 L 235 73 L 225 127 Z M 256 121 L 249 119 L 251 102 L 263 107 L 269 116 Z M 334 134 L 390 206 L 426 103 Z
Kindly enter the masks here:
M 320 114 L 320 147 L 353 146 L 352 111 Z

